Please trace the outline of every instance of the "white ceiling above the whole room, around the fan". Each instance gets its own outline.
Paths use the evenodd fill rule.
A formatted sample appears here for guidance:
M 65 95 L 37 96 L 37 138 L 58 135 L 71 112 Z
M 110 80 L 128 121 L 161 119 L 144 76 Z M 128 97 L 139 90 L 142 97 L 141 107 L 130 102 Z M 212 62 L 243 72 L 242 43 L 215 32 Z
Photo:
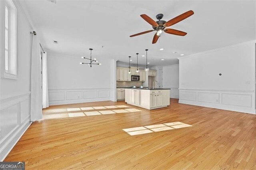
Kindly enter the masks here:
M 47 0 L 25 0 L 23 3 L 47 51 L 78 57 L 88 57 L 89 48 L 93 48 L 93 57 L 99 60 L 114 58 L 128 62 L 131 55 L 135 63 L 138 52 L 139 64 L 145 64 L 146 58 L 142 55 L 149 49 L 149 65 L 164 66 L 178 63 L 180 54 L 189 55 L 256 39 L 255 0 L 57 0 L 57 4 Z M 140 14 L 156 20 L 156 14 L 162 13 L 163 20 L 168 21 L 188 10 L 193 10 L 194 15 L 170 27 L 187 32 L 184 37 L 163 33 L 156 44 L 152 44 L 155 32 L 129 37 L 152 29 Z

